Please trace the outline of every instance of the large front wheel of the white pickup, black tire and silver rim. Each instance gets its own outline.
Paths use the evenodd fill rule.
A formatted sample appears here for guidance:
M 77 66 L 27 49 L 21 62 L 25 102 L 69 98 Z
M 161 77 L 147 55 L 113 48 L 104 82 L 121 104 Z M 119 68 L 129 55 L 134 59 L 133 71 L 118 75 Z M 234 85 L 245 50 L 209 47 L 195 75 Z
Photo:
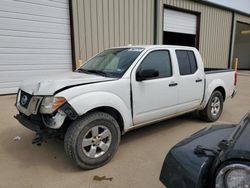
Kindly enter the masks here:
M 97 138 L 95 137 L 95 143 L 93 143 L 94 139 L 92 139 L 94 137 L 93 130 L 98 130 L 99 132 L 102 131 L 100 129 L 103 129 L 103 133 L 105 130 L 111 135 L 111 137 L 105 138 L 105 142 L 109 143 L 106 144 L 109 145 L 109 147 L 105 152 L 98 147 Z M 98 133 L 98 135 L 101 135 L 101 133 Z M 93 112 L 86 114 L 70 125 L 64 138 L 64 149 L 66 155 L 79 167 L 83 169 L 94 169 L 103 166 L 111 160 L 118 149 L 120 137 L 119 125 L 111 115 L 103 112 Z M 91 139 L 91 145 L 84 147 L 84 139 Z M 105 139 L 100 142 L 104 143 Z M 99 146 L 101 146 L 100 143 Z M 101 156 L 93 156 L 93 153 L 91 153 L 92 148 L 95 148 L 96 155 L 98 152 L 99 155 L 104 153 Z

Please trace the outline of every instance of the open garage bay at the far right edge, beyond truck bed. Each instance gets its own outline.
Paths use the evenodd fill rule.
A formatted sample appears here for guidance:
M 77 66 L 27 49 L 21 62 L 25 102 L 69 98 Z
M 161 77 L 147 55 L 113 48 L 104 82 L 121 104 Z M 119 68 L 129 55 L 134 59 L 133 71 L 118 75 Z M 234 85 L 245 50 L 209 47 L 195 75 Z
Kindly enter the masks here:
M 239 59 L 238 69 L 250 70 L 250 24 L 237 22 L 234 43 L 234 59 Z

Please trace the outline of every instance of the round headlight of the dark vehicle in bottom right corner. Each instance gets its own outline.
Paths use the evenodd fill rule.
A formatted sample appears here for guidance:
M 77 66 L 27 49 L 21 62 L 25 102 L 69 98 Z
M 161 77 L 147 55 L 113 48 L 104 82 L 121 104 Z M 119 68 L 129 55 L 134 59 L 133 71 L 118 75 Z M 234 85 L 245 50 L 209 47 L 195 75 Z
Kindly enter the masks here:
M 216 188 L 250 188 L 250 167 L 231 164 L 222 168 L 216 177 Z

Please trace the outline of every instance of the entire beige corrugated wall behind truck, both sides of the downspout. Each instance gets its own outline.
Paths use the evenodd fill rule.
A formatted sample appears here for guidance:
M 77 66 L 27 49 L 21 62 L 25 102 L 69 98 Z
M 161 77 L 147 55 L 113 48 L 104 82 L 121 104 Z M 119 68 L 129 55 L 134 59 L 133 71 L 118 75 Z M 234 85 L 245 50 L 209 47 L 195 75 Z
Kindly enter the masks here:
M 199 50 L 205 66 L 228 66 L 232 12 L 190 0 L 159 0 L 159 44 L 164 4 L 199 12 Z M 153 44 L 154 0 L 72 0 L 72 8 L 77 62 L 110 47 Z

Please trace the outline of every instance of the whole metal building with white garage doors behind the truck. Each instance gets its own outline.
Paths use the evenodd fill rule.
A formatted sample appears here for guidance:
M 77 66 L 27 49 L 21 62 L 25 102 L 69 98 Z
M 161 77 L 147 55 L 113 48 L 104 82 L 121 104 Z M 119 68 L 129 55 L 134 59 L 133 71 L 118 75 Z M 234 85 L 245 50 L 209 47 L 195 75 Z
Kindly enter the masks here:
M 250 12 L 202 0 L 1 0 L 0 94 L 128 44 L 197 47 L 206 67 L 250 70 Z

